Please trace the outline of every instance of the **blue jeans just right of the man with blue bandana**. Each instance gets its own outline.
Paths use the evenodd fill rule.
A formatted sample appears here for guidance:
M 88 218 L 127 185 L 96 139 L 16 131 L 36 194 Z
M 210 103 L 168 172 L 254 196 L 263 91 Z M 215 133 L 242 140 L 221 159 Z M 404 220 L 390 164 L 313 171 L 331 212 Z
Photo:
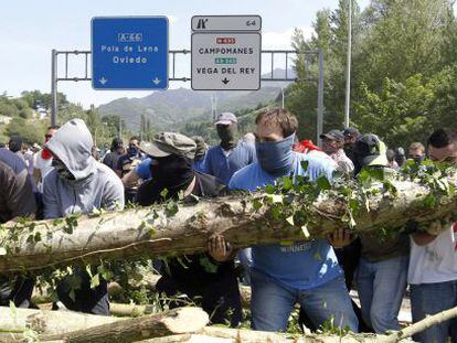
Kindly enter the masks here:
M 378 262 L 360 259 L 357 288 L 363 320 L 376 333 L 400 330 L 398 311 L 406 290 L 408 257 Z

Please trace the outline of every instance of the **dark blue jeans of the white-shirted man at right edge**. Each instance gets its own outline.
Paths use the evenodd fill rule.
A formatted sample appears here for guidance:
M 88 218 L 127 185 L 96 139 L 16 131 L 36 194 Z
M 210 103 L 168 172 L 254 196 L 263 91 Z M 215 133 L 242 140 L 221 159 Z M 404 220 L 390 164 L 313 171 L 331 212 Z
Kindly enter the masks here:
M 423 320 L 457 306 L 457 280 L 437 283 L 411 285 L 413 322 Z M 434 325 L 414 335 L 415 342 L 444 343 L 446 337 L 457 342 L 457 319 Z

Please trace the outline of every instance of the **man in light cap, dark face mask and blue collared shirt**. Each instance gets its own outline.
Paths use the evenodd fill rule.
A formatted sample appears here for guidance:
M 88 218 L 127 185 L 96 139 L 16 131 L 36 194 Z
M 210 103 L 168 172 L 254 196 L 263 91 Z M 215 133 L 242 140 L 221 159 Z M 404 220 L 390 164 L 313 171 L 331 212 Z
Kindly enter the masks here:
M 237 119 L 234 114 L 221 114 L 215 126 L 221 143 L 208 150 L 202 172 L 215 176 L 223 184 L 228 184 L 237 170 L 256 161 L 255 148 L 237 141 Z

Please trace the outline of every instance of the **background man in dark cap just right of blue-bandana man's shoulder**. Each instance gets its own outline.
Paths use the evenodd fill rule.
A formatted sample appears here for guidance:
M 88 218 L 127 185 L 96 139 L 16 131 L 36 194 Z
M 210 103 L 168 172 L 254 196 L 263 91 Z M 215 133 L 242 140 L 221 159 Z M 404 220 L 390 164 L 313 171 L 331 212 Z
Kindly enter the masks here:
M 347 174 L 350 174 L 354 170 L 354 164 L 346 156 L 344 147 L 344 135 L 339 130 L 330 130 L 327 133 L 320 135 L 322 139 L 322 150 L 329 157 L 337 162 L 338 168 Z

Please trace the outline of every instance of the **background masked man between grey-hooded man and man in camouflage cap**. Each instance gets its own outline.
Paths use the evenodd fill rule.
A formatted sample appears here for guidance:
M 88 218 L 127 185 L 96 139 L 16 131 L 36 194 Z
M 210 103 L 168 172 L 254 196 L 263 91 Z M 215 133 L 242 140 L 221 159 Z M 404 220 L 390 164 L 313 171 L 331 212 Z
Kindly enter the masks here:
M 138 137 L 131 137 L 128 142 L 128 148 L 125 154 L 119 157 L 117 160 L 116 165 L 116 174 L 123 179 L 126 174 L 132 171 L 137 165 L 141 163 L 145 159 L 145 156 L 141 153 L 139 149 L 140 139 Z M 129 183 L 126 184 L 125 187 L 125 197 L 126 203 L 132 202 L 135 200 L 135 195 L 138 191 L 138 183 Z

